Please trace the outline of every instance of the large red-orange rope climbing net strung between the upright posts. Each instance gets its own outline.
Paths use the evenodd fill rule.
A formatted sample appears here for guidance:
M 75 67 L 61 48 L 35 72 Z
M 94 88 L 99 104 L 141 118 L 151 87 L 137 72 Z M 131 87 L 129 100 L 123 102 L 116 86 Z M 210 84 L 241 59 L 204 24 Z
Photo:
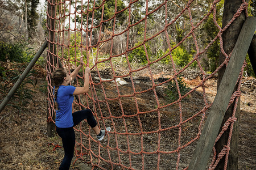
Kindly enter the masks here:
M 247 3 L 241 2 L 230 22 L 221 28 L 216 15 L 222 12 L 217 6 L 223 1 L 212 2 L 201 18 L 196 15 L 200 10 L 197 1 L 160 1 L 156 5 L 154 1 L 147 0 L 142 5 L 142 1 L 135 0 L 124 3 L 123 6 L 119 5 L 121 1 L 47 2 L 47 29 L 50 31 L 47 37 L 49 45 L 46 66 L 48 122 L 54 122 L 55 117 L 52 71 L 63 66 L 71 73 L 79 65 L 79 57 L 83 54 L 86 57 L 85 63 L 92 69 L 90 92 L 74 100 L 73 111 L 92 109 L 101 129 L 108 126 L 112 128 L 104 141 L 98 142 L 86 120 L 76 126 L 77 159 L 91 164 L 92 168 L 100 169 L 187 169 L 212 105 L 207 99 L 205 83 L 228 64 L 231 56 L 231 53 L 228 54 L 223 49 L 222 32 L 242 11 L 246 11 Z M 138 13 L 143 13 L 139 19 L 135 16 Z M 153 29 L 149 23 L 155 17 L 158 17 L 159 27 Z M 187 23 L 184 23 L 185 18 Z M 207 45 L 202 46 L 200 43 L 204 37 L 200 36 L 200 30 L 208 19 L 211 19 L 218 31 Z M 175 28 L 181 27 L 181 24 L 183 28 L 186 27 L 184 36 L 179 39 L 177 35 L 172 37 Z M 135 40 L 134 35 L 139 35 L 139 40 Z M 178 40 L 177 43 L 174 43 L 175 39 Z M 201 58 L 217 41 L 220 42 L 221 53 L 226 59 L 212 74 L 206 74 Z M 160 42 L 166 46 L 167 53 L 154 56 L 148 46 L 152 49 Z M 179 67 L 173 56 L 175 50 L 184 44 L 189 44 L 195 52 L 184 67 Z M 130 58 L 133 53 L 138 53 L 137 58 Z M 144 60 L 140 58 L 143 62 L 136 63 L 136 59 L 138 61 L 142 54 L 145 56 Z M 154 74 L 157 70 L 156 63 L 167 60 L 173 74 L 162 82 L 158 81 Z M 195 65 L 199 68 L 201 79 L 195 87 L 182 94 L 179 75 Z M 238 78 L 238 89 L 230 99 L 230 104 L 235 103 L 233 116 L 222 127 L 216 142 L 228 128 L 231 137 L 242 71 L 243 69 Z M 83 74 L 84 70 L 77 76 L 74 86 L 82 86 Z M 158 75 L 161 74 L 159 71 Z M 148 82 L 138 83 L 138 75 L 148 75 Z M 120 85 L 123 80 L 129 83 Z M 166 95 L 164 89 L 171 82 L 178 95 L 173 101 L 163 97 Z M 142 100 L 146 101 L 143 103 Z M 191 105 L 191 100 L 196 101 L 196 105 Z M 229 145 L 230 138 L 218 155 L 213 148 L 209 169 L 214 169 L 222 158 L 227 162 Z

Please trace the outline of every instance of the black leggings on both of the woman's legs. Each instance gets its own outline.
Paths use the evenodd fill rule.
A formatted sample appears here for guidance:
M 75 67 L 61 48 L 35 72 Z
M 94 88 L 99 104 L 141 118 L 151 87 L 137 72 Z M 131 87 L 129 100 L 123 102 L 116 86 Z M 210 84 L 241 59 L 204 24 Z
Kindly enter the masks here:
M 83 111 L 77 111 L 73 114 L 73 126 L 79 124 L 82 120 L 86 119 L 90 127 L 94 128 L 97 125 L 97 122 L 93 116 L 93 113 L 90 109 L 86 109 Z M 62 139 L 62 145 L 64 148 L 65 156 L 63 158 L 62 163 L 60 164 L 59 169 L 69 169 L 73 155 L 74 155 L 74 148 L 75 148 L 75 131 L 73 127 L 70 128 L 58 128 L 56 126 L 57 134 Z

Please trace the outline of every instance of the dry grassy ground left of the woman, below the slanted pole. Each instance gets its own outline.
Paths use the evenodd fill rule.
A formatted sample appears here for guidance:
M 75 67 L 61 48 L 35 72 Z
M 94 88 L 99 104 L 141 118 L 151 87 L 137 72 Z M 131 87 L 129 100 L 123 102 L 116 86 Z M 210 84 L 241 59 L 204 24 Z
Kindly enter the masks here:
M 17 109 L 7 106 L 1 116 L 0 169 L 57 169 L 62 156 L 48 143 L 61 143 L 58 137 L 46 136 L 46 95 L 36 94 L 36 100 Z

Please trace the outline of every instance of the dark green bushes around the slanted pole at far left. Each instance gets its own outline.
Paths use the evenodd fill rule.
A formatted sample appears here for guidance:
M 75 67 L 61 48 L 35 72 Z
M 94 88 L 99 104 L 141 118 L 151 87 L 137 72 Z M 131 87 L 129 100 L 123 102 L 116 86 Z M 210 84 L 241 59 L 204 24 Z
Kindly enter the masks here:
M 14 44 L 0 42 L 0 44 L 0 95 L 6 96 L 13 87 L 13 84 L 15 84 L 20 77 L 20 74 L 34 57 L 34 50 L 27 48 L 29 44 L 26 44 L 26 42 Z M 12 106 L 19 111 L 24 105 L 29 103 L 29 100 L 32 100 L 32 94 L 34 92 L 30 89 L 31 86 L 28 86 L 28 84 L 32 84 L 35 87 L 37 80 L 31 79 L 29 76 L 34 77 L 34 75 L 39 75 L 38 71 L 42 71 L 40 70 L 40 66 L 34 67 L 28 74 L 28 78 L 23 80 L 14 94 Z

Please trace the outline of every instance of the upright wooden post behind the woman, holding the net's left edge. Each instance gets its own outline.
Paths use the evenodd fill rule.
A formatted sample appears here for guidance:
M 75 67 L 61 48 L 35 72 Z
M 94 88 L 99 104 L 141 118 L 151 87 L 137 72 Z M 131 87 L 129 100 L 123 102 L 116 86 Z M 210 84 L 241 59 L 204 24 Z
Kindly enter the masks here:
M 51 5 L 52 3 L 52 5 Z M 52 2 L 49 3 L 48 2 L 48 15 L 47 16 L 47 33 L 48 33 L 48 54 L 47 54 L 47 70 L 52 73 L 53 72 L 53 67 L 56 64 L 56 47 L 55 47 L 55 15 L 56 15 L 56 11 L 55 11 L 55 4 L 56 4 L 56 0 L 52 0 Z M 51 17 L 51 18 L 50 18 Z M 47 73 L 48 74 L 48 73 Z M 51 74 L 47 75 L 48 78 L 48 82 L 51 82 L 51 87 L 53 87 L 53 82 L 51 81 Z M 48 88 L 51 88 L 50 86 L 48 86 Z M 48 102 L 52 102 L 52 101 L 48 101 Z M 49 107 L 49 104 L 48 104 Z M 49 110 L 51 110 L 51 112 L 53 112 L 53 109 L 51 108 L 47 108 L 47 119 L 49 117 Z M 55 120 L 55 114 L 52 115 L 52 120 Z M 47 121 L 47 136 L 48 137 L 52 137 L 55 134 L 55 124 L 50 120 Z

